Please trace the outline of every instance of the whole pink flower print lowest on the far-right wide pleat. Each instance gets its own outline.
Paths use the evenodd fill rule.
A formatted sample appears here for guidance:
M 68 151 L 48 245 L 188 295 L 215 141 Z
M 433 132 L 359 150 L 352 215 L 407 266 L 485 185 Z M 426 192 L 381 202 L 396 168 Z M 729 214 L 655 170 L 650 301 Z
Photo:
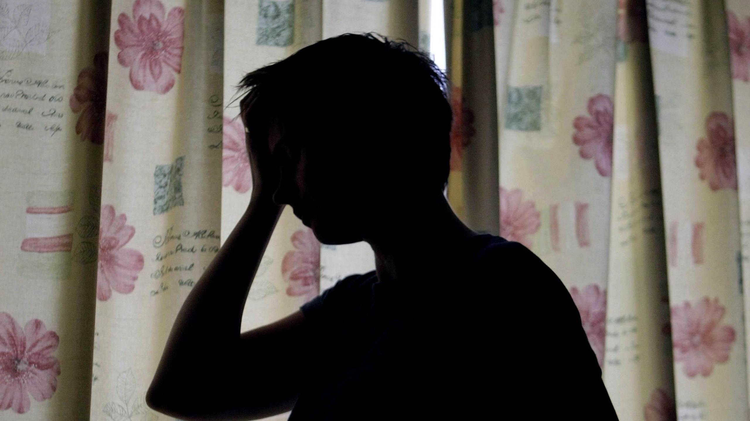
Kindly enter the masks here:
M 724 306 L 718 298 L 703 297 L 697 303 L 688 301 L 671 309 L 674 360 L 685 363 L 683 371 L 692 378 L 698 373 L 706 377 L 713 363 L 726 363 L 736 337 L 734 328 L 720 324 Z

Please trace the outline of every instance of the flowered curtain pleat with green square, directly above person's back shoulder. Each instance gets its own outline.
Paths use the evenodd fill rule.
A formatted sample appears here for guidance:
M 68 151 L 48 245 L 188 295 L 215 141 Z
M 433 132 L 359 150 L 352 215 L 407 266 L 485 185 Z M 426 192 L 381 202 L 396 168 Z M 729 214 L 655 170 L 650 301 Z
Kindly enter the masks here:
M 532 249 L 575 300 L 591 307 L 593 318 L 603 317 L 616 1 L 495 5 L 496 55 L 507 58 L 497 70 L 504 96 L 498 106 L 499 234 Z M 588 333 L 603 363 L 604 327 Z

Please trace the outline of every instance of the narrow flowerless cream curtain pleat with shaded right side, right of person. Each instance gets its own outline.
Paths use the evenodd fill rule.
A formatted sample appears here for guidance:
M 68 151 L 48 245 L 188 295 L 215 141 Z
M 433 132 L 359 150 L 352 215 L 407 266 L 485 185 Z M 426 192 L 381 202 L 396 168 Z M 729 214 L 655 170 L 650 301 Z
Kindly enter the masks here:
M 618 13 L 604 384 L 621 420 L 642 420 L 658 399 L 673 404 L 673 366 L 645 15 Z

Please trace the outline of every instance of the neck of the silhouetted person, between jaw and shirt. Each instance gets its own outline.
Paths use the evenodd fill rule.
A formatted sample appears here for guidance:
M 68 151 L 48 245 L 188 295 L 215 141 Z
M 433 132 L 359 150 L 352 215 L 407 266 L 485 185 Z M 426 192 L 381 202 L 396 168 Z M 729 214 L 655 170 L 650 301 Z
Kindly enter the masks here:
M 463 224 L 445 196 L 404 204 L 383 214 L 371 235 L 378 279 L 411 279 L 441 273 L 455 261 L 465 240 L 479 235 Z

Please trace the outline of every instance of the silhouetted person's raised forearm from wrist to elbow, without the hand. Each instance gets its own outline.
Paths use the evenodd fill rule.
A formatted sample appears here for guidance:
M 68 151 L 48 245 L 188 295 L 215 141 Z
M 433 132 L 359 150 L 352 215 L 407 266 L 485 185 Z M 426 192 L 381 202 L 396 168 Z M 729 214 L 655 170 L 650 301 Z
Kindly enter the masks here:
M 211 387 L 220 375 L 229 374 L 217 365 L 233 360 L 233 352 L 239 349 L 242 311 L 283 209 L 269 196 L 254 197 L 187 295 L 148 388 L 146 399 L 157 408 L 169 405 L 178 385 Z

